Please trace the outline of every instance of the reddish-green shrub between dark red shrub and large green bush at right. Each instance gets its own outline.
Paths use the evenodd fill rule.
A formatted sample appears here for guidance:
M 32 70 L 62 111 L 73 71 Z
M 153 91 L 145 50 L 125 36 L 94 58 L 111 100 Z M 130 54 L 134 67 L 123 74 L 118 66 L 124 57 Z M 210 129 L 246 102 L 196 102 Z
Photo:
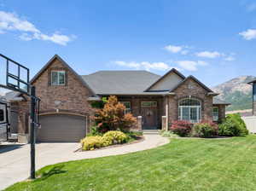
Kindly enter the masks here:
M 210 137 L 218 135 L 218 125 L 213 122 L 202 121 L 193 127 L 194 136 Z

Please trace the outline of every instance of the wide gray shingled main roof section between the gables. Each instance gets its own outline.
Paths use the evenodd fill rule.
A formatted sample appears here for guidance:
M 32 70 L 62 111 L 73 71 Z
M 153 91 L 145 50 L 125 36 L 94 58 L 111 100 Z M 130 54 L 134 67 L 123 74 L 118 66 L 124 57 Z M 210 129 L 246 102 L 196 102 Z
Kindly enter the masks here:
M 84 81 L 97 95 L 158 95 L 162 92 L 144 92 L 160 78 L 147 71 L 99 71 L 83 75 Z

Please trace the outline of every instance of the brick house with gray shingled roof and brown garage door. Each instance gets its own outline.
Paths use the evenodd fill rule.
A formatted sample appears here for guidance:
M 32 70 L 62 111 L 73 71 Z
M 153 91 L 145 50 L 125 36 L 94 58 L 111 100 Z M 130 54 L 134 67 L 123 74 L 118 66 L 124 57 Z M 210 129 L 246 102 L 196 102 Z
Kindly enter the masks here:
M 79 76 L 60 56 L 55 55 L 32 78 L 41 98 L 40 142 L 77 142 L 90 129 L 94 110 L 91 101 L 118 96 L 126 112 L 138 119 L 137 130 L 166 129 L 173 120 L 220 121 L 228 103 L 214 99 L 212 92 L 193 76 L 184 77 L 176 69 L 164 76 L 147 71 L 100 71 Z M 21 139 L 29 131 L 29 98 L 9 93 L 11 109 L 18 113 Z M 142 117 L 140 117 L 142 116 Z M 167 118 L 165 116 L 168 116 Z

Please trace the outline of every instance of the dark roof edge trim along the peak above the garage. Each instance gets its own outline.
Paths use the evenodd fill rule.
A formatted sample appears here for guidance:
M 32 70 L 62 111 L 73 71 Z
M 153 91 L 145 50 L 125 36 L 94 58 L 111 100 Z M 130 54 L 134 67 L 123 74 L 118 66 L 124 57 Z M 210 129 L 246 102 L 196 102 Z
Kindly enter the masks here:
M 96 96 L 95 92 L 90 88 L 90 86 L 88 84 L 86 84 L 86 82 L 84 81 L 83 78 L 81 78 L 81 76 L 79 76 L 79 74 L 77 72 L 75 72 L 73 70 L 72 67 L 69 67 L 69 65 L 67 64 L 66 61 L 62 60 L 61 59 L 61 56 L 59 55 L 54 55 L 45 65 L 44 67 L 42 67 L 42 69 L 32 78 L 32 80 L 30 81 L 30 84 L 33 84 L 43 73 L 44 71 L 49 68 L 49 66 L 51 66 L 55 60 L 58 60 L 58 61 L 61 61 L 61 64 L 64 66 L 64 67 L 67 67 L 67 69 L 72 72 L 74 74 L 74 76 L 76 78 L 78 78 L 78 80 L 84 85 L 85 88 L 87 88 L 88 90 L 91 91 L 91 93 Z

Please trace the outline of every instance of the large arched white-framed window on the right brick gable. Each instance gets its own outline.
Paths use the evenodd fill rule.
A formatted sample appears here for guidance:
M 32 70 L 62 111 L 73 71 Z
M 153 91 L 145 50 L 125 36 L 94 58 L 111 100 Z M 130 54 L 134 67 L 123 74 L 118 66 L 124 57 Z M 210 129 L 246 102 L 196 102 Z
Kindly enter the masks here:
M 185 98 L 178 101 L 178 119 L 197 123 L 201 120 L 201 101 Z

